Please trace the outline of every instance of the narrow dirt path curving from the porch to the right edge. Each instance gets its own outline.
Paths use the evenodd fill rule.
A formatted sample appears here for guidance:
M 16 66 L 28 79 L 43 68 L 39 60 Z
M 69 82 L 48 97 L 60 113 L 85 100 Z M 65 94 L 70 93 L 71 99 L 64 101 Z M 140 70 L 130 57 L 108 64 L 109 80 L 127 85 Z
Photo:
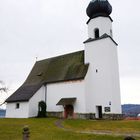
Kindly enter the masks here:
M 63 122 L 64 122 L 64 119 L 58 119 L 58 120 L 55 122 L 55 125 L 56 125 L 58 128 L 64 129 L 65 131 L 72 131 L 72 132 L 75 132 L 75 133 L 82 133 L 82 134 L 140 137 L 140 133 L 119 133 L 119 132 L 99 131 L 99 130 L 93 130 L 93 131 L 77 131 L 77 130 L 65 128 L 65 127 L 63 126 Z

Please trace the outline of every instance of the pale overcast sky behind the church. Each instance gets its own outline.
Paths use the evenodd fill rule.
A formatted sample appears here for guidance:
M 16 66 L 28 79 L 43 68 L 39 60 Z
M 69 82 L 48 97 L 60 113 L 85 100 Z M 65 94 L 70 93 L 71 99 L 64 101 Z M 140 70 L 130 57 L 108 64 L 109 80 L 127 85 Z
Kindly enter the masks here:
M 6 96 L 25 81 L 36 57 L 84 49 L 89 1 L 0 0 L 0 80 L 9 87 Z M 109 2 L 113 36 L 119 44 L 121 100 L 140 103 L 140 1 Z

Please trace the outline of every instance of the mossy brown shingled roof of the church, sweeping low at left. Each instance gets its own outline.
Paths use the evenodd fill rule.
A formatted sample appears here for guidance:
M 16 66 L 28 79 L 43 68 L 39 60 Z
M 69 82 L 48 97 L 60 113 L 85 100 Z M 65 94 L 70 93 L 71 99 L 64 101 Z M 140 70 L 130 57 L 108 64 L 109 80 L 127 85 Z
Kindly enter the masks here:
M 28 101 L 44 84 L 84 79 L 87 70 L 84 51 L 37 61 L 24 84 L 6 102 Z

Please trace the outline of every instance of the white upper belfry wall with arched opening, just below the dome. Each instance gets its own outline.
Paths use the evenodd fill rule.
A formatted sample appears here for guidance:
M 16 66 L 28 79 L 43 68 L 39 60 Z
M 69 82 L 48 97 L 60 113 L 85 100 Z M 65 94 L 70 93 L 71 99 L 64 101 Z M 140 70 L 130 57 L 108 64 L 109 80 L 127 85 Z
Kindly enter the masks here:
M 112 37 L 112 21 L 109 17 L 97 17 L 90 20 L 88 23 L 88 37 L 95 38 L 94 30 L 99 29 L 99 35 L 108 34 Z

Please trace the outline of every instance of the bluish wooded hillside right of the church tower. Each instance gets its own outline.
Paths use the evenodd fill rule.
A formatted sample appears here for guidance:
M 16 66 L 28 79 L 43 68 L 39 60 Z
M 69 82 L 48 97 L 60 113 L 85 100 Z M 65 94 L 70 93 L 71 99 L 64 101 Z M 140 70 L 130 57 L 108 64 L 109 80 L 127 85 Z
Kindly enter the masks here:
M 125 116 L 137 117 L 140 114 L 140 105 L 138 104 L 124 104 L 122 105 L 122 112 Z

